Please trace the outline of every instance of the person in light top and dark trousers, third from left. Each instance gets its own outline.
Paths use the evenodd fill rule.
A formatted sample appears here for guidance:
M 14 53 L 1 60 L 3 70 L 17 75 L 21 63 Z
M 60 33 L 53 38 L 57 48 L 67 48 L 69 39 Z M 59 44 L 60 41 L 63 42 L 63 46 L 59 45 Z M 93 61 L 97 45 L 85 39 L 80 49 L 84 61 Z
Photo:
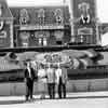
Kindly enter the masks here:
M 51 99 L 55 98 L 55 71 L 53 66 L 49 65 L 46 69 L 46 78 L 48 78 L 48 92 Z

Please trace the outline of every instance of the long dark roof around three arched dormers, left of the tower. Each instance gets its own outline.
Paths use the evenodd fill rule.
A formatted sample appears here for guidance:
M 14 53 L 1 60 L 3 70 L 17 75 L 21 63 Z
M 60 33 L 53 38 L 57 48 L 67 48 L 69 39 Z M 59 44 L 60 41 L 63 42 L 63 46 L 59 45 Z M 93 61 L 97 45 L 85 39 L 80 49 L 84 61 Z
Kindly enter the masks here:
M 29 24 L 35 25 L 39 24 L 39 18 L 38 18 L 38 12 L 40 9 L 44 10 L 45 13 L 45 19 L 44 24 L 54 24 L 55 23 L 55 16 L 54 12 L 56 9 L 60 9 L 63 12 L 63 17 L 64 17 L 64 24 L 69 24 L 69 9 L 68 6 L 28 6 L 28 8 L 10 8 L 12 15 L 14 17 L 14 24 L 19 25 L 19 12 L 22 9 L 26 9 L 28 12 L 28 15 L 30 17 Z

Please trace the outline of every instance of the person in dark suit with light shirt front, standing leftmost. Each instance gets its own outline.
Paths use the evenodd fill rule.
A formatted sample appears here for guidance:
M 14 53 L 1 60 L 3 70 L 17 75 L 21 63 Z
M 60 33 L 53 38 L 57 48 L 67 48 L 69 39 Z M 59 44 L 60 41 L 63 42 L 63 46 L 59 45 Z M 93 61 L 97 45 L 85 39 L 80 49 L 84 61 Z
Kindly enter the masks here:
M 33 99 L 32 98 L 33 81 L 35 81 L 35 70 L 31 68 L 30 62 L 27 62 L 25 69 L 26 100 Z

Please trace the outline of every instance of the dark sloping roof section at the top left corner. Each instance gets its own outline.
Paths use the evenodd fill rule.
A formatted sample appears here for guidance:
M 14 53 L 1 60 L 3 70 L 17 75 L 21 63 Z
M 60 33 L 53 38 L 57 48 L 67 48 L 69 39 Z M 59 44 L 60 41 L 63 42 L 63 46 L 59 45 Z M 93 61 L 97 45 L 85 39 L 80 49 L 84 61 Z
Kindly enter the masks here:
M 6 1 L 5 0 L 0 0 L 0 4 L 2 6 L 2 15 L 0 18 L 12 18 L 12 13 L 10 9 L 8 8 Z

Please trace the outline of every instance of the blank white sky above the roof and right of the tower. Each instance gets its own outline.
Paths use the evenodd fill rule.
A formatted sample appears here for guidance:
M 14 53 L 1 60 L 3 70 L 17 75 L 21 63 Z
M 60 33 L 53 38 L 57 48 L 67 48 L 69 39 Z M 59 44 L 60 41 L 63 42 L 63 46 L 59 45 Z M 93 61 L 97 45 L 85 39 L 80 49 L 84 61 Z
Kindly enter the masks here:
M 9 6 L 38 6 L 38 5 L 59 5 L 64 0 L 6 0 Z M 66 0 L 67 4 L 69 0 Z M 97 17 L 100 23 L 108 23 L 108 0 L 96 0 Z M 102 37 L 103 45 L 108 44 L 108 33 Z

